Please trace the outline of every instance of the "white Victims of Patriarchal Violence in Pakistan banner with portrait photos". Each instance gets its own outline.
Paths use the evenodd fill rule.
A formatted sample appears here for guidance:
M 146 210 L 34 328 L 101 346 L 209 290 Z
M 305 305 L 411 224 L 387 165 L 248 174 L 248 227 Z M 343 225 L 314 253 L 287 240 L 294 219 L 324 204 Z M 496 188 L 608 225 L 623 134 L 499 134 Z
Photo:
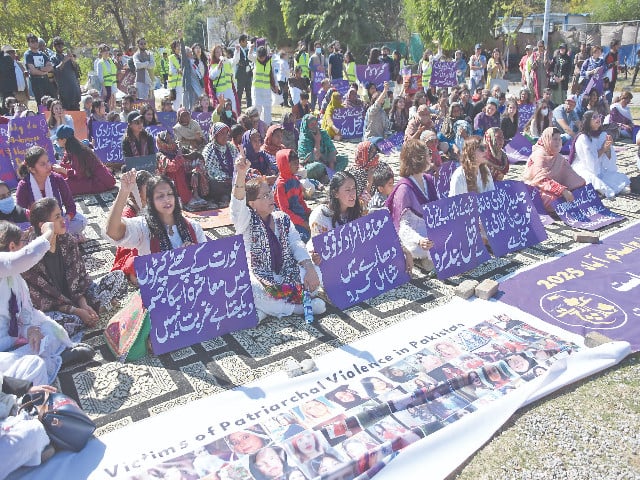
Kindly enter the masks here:
M 20 478 L 443 478 L 521 406 L 618 363 L 499 302 L 456 299 L 284 372 L 58 453 Z

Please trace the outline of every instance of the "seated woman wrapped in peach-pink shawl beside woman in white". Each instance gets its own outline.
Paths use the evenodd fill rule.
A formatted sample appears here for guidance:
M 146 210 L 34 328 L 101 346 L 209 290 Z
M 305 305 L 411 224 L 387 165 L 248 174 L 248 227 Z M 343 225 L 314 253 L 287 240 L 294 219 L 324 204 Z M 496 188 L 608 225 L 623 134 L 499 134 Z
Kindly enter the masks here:
M 533 146 L 523 173 L 524 182 L 540 191 L 542 203 L 549 212 L 554 211 L 552 204 L 560 198 L 572 202 L 572 190 L 584 186 L 584 179 L 560 155 L 560 149 L 560 130 L 554 127 L 545 129 L 538 143 Z

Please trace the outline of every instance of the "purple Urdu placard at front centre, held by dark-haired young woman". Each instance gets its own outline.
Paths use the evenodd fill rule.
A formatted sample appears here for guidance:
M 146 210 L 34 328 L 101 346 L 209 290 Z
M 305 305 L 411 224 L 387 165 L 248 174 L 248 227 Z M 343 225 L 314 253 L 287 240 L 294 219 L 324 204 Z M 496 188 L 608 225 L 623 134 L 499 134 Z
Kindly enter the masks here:
M 322 282 L 341 310 L 409 281 L 400 239 L 387 209 L 313 237 Z

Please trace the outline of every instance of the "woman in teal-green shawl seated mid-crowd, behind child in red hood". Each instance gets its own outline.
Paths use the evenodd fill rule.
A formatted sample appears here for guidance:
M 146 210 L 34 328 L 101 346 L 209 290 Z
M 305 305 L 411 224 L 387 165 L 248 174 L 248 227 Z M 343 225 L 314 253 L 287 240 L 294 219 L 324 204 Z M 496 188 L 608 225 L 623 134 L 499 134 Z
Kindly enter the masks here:
M 348 159 L 337 155 L 337 150 L 329 134 L 318 125 L 313 115 L 305 115 L 300 124 L 298 155 L 309 178 L 328 181 L 327 169 L 344 170 Z

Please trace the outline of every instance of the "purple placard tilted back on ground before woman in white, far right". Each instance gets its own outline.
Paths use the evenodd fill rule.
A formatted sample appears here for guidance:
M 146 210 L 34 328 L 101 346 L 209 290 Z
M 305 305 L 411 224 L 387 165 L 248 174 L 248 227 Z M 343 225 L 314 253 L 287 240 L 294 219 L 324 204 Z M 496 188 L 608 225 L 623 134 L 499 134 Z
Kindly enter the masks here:
M 626 217 L 612 212 L 602 204 L 598 192 L 590 183 L 572 191 L 573 202 L 556 200 L 552 203 L 564 223 L 583 230 L 598 230 Z

